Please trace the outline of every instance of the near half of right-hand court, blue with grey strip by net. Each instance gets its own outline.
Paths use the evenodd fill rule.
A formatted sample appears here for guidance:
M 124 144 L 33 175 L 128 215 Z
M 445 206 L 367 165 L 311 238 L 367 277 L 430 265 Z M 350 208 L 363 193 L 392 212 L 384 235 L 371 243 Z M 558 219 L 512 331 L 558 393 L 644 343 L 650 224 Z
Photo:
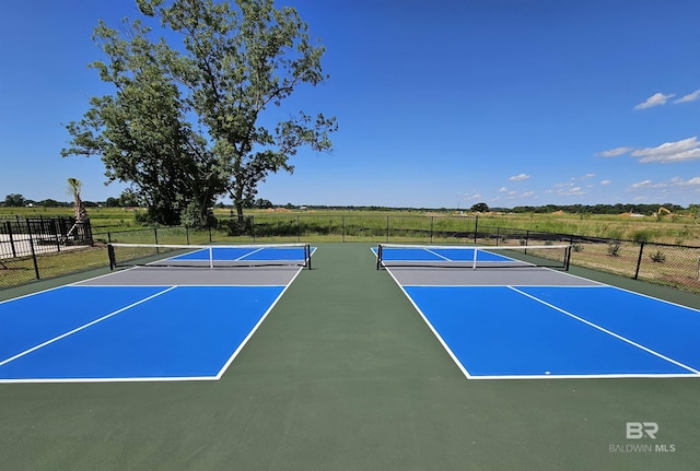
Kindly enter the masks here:
M 696 309 L 545 268 L 387 271 L 468 378 L 700 375 Z

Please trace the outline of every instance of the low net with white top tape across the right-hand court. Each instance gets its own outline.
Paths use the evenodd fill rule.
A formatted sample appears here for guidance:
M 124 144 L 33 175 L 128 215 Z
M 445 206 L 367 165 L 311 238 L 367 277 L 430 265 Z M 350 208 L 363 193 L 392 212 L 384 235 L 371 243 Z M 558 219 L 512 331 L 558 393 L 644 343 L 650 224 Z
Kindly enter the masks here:
M 570 245 L 541 246 L 435 246 L 380 244 L 376 268 L 527 268 L 569 270 Z

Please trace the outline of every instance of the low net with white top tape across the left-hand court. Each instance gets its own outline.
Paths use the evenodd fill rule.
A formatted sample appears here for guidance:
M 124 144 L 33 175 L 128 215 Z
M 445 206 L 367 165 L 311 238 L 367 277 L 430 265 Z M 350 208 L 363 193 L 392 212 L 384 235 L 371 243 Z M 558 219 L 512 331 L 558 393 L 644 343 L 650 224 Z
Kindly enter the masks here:
M 312 247 L 308 244 L 258 245 L 166 245 L 107 244 L 109 268 L 126 267 L 307 267 Z

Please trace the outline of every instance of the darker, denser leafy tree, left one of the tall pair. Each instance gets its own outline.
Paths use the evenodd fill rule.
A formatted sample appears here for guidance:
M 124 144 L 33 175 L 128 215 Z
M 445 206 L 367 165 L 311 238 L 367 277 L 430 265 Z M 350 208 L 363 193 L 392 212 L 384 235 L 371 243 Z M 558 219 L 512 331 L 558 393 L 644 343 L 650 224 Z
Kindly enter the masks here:
M 126 39 L 103 22 L 93 38 L 107 55 L 91 67 L 115 94 L 93 97 L 62 155 L 100 155 L 108 181 L 128 182 L 147 204 L 151 221 L 179 223 L 192 202 L 200 211 L 225 189 L 217 158 L 186 119 L 187 104 L 171 72 L 176 54 L 152 43 L 141 22 L 125 21 Z

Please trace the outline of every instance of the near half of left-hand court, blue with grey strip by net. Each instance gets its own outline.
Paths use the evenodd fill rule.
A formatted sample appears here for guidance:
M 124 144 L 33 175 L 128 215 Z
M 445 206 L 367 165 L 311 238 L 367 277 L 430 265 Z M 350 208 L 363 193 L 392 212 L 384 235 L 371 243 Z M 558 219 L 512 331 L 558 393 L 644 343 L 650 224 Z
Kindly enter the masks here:
M 0 303 L 0 382 L 219 379 L 301 270 L 135 268 Z

